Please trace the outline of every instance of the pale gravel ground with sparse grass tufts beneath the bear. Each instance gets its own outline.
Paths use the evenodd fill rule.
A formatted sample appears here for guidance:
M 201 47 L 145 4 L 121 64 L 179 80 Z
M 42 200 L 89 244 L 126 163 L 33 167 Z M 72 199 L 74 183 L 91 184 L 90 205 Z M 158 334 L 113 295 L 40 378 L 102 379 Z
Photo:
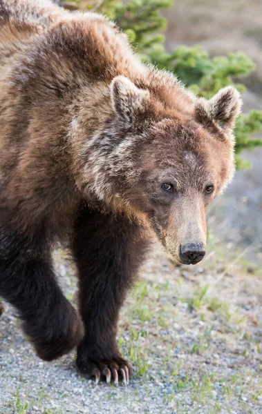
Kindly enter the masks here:
M 120 347 L 135 367 L 127 388 L 81 377 L 74 353 L 42 362 L 5 304 L 0 413 L 262 413 L 261 270 L 220 247 L 211 239 L 203 264 L 187 267 L 153 249 L 121 313 Z M 74 270 L 62 251 L 55 262 L 73 300 Z

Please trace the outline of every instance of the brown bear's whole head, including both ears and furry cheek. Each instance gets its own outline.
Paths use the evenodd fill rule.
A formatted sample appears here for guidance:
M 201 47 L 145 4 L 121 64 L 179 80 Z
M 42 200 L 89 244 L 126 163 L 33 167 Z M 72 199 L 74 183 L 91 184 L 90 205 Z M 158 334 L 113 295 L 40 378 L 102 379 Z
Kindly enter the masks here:
M 183 94 L 172 108 L 149 88 L 115 77 L 113 117 L 89 141 L 86 171 L 97 199 L 148 224 L 176 262 L 196 264 L 205 255 L 207 206 L 234 174 L 241 99 L 227 87 L 209 100 L 187 95 L 190 105 L 175 108 Z

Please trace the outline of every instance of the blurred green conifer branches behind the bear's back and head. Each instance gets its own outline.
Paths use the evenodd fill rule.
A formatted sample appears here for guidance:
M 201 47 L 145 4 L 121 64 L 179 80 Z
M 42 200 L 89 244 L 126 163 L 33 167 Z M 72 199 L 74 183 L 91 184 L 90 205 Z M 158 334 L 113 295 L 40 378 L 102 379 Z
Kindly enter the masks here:
M 143 61 L 171 70 L 198 96 L 212 97 L 227 85 L 234 85 L 239 92 L 243 92 L 245 86 L 238 79 L 254 70 L 254 63 L 244 53 L 210 57 L 198 46 L 179 46 L 167 52 L 163 34 L 167 21 L 161 16 L 161 11 L 172 3 L 173 0 L 75 0 L 65 4 L 71 9 L 106 14 L 127 34 Z M 244 149 L 262 145 L 262 140 L 256 139 L 259 132 L 262 132 L 262 112 L 252 110 L 238 117 L 235 130 L 236 168 L 250 166 L 239 154 Z

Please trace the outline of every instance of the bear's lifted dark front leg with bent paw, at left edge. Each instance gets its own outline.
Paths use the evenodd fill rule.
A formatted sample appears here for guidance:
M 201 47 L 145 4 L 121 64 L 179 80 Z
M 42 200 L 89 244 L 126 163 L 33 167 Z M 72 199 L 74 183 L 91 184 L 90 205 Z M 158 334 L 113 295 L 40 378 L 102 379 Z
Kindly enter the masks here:
M 0 295 L 18 309 L 37 355 L 46 361 L 60 357 L 79 344 L 82 321 L 55 280 L 50 255 L 39 257 L 33 238 L 14 239 L 11 231 L 3 237 L 2 230 Z

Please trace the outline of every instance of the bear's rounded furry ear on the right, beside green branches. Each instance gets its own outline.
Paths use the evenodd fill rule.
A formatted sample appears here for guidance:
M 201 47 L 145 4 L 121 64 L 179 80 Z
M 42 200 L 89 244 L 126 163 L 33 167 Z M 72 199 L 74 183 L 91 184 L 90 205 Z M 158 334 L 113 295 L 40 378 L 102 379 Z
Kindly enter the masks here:
M 232 86 L 219 90 L 212 99 L 200 98 L 196 101 L 196 115 L 204 123 L 214 121 L 225 132 L 234 129 L 236 117 L 241 110 L 239 92 Z

